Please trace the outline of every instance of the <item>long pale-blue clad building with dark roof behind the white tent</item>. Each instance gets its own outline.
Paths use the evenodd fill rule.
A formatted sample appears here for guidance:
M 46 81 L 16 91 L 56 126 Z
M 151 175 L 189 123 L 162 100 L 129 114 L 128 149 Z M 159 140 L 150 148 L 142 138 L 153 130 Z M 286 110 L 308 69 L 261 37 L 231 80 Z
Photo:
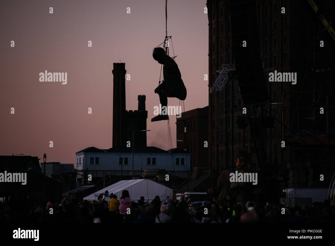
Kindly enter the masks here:
M 97 149 L 89 147 L 78 151 L 76 158 L 81 162 L 77 164 L 79 179 L 82 178 L 82 175 L 87 177 L 91 174 L 95 181 L 103 180 L 105 183 L 106 178 L 119 181 L 131 179 L 133 176 L 132 148 Z M 141 176 L 146 169 L 165 169 L 165 174 L 187 178 L 190 170 L 189 160 L 190 153 L 182 149 L 165 151 L 157 147 L 134 148 L 134 176 Z

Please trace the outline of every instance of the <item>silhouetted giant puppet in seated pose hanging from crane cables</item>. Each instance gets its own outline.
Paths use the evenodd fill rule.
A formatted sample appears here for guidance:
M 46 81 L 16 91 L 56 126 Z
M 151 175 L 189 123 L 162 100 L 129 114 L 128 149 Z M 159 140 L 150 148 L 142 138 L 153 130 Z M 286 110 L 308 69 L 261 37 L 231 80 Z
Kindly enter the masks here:
M 164 80 L 155 89 L 155 93 L 159 95 L 159 101 L 163 106 L 167 107 L 167 97 L 177 97 L 180 100 L 186 98 L 186 87 L 182 80 L 177 63 L 168 55 L 163 48 L 155 48 L 152 52 L 152 57 L 158 63 L 163 65 Z M 159 114 L 153 117 L 151 121 L 169 119 L 168 115 Z

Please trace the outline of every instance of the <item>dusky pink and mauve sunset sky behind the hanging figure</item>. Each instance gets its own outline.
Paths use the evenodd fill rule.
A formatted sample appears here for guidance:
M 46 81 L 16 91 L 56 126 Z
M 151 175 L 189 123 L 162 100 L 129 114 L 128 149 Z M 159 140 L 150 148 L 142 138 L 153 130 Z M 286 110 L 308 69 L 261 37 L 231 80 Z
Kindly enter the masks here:
M 204 7 L 206 0 L 167 4 L 167 34 L 172 35 L 187 88 L 185 111 L 208 105 Z M 153 107 L 159 105 L 154 89 L 161 67 L 152 49 L 164 41 L 165 0 L 3 0 L 0 18 L 0 155 L 43 158 L 46 153 L 47 162 L 74 163 L 75 152 L 84 148 L 111 148 L 112 70 L 120 59 L 131 76 L 126 80 L 126 109 L 137 110 L 137 95 L 146 95 L 151 130 L 147 146 L 168 149 L 167 120 L 150 121 Z M 15 47 L 10 47 L 11 40 Z M 40 82 L 45 70 L 67 72 L 67 84 Z M 168 98 L 168 103 L 179 106 L 177 98 Z M 12 107 L 15 114 L 10 113 Z M 175 122 L 176 116 L 170 117 L 174 147 Z

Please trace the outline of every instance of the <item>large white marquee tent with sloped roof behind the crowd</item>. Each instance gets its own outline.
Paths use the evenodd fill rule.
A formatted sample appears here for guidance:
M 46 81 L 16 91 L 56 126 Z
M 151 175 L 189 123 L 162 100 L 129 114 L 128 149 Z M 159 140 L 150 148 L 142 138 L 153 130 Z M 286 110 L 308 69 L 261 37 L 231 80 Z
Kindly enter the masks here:
M 106 190 L 108 190 L 109 194 L 113 193 L 114 195 L 117 195 L 118 200 L 120 200 L 123 190 L 128 190 L 130 199 L 135 202 L 137 202 L 141 196 L 144 196 L 144 200 L 148 202 L 151 202 L 156 195 L 158 195 L 161 200 L 165 200 L 166 196 L 172 198 L 172 189 L 169 187 L 149 179 L 132 179 L 121 180 L 101 190 L 95 191 L 94 193 L 85 196 L 83 199 L 89 201 L 95 200 L 97 199 L 98 194 L 105 194 Z M 105 200 L 109 201 L 110 198 L 106 197 Z

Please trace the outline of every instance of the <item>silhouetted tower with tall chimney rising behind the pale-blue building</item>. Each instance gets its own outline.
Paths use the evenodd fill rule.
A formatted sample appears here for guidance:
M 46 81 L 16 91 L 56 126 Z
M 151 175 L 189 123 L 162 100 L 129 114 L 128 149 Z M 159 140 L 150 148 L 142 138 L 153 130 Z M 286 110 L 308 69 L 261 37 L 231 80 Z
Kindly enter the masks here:
M 134 147 L 146 147 L 145 95 L 138 95 L 138 110 L 126 110 L 125 63 L 113 63 L 113 147 L 125 147 L 133 141 Z

